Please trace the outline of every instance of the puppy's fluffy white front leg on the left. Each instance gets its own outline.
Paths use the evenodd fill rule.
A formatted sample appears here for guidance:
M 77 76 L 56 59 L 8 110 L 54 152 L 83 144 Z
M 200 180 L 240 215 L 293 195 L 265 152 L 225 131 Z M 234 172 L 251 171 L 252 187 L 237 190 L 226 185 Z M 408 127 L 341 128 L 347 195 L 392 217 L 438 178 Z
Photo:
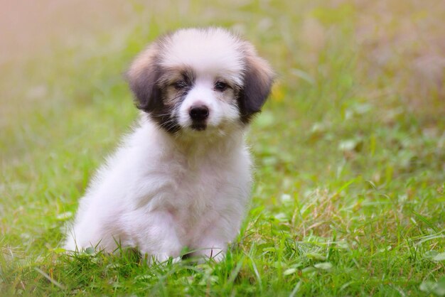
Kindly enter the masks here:
M 168 211 L 139 212 L 129 218 L 134 227 L 134 237 L 141 254 L 149 257 L 149 264 L 154 259 L 158 262 L 173 257 L 177 260 L 181 254 L 181 244 L 176 233 L 176 223 Z

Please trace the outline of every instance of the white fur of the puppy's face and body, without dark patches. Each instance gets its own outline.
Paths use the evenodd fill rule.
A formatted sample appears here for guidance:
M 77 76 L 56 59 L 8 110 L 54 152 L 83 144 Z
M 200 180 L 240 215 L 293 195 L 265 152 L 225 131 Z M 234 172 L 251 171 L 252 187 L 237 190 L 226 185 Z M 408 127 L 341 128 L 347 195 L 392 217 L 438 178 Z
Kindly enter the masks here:
M 142 113 L 80 200 L 65 249 L 113 252 L 120 243 L 163 261 L 188 247 L 220 260 L 237 236 L 252 163 L 240 111 L 213 84 L 226 77 L 242 85 L 243 53 L 226 31 L 197 32 L 178 31 L 162 52 L 164 66 L 189 65 L 196 73 L 193 89 L 175 110 L 183 131 L 169 134 Z M 198 102 L 210 110 L 205 131 L 190 129 L 188 110 Z

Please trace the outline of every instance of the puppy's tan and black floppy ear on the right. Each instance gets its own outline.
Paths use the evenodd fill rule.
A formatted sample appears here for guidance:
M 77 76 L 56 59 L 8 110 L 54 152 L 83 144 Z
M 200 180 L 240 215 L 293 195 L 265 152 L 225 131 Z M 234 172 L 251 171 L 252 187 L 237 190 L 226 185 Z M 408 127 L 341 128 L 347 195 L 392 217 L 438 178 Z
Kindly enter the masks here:
M 244 86 L 240 92 L 240 112 L 247 124 L 252 116 L 261 112 L 274 82 L 274 71 L 266 60 L 255 53 L 252 46 L 246 50 Z

